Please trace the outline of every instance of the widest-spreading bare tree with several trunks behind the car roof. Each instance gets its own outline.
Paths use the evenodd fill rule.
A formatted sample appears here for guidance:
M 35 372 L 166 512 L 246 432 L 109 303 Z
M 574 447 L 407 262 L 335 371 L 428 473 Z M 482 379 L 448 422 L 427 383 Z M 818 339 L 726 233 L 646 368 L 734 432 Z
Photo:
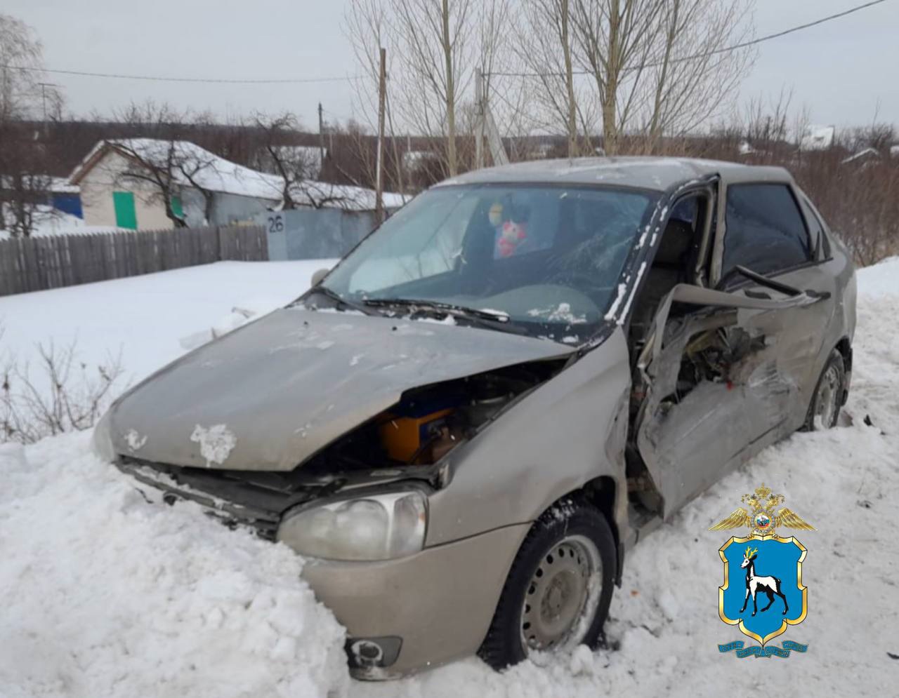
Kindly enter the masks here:
M 641 137 L 641 150 L 657 151 L 663 135 L 688 133 L 729 106 L 754 55 L 731 49 L 752 31 L 753 2 L 570 0 L 573 62 L 590 76 L 608 155 L 619 153 L 626 133 Z M 562 41 L 562 31 L 554 36 Z M 568 82 L 568 72 L 556 75 Z M 544 84 L 556 90 L 557 81 Z

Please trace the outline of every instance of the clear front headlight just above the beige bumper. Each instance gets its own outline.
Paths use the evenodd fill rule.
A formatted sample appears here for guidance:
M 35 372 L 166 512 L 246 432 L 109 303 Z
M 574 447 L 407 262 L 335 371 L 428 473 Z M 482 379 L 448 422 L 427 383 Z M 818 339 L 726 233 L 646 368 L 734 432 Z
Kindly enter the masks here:
M 278 540 L 326 560 L 393 560 L 422 550 L 427 518 L 427 498 L 419 490 L 372 494 L 288 514 Z

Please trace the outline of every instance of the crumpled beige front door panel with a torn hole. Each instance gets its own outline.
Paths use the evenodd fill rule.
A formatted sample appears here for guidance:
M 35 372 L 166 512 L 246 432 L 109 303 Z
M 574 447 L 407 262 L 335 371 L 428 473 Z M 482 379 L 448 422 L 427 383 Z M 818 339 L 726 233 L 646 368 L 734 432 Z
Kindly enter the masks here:
M 739 297 L 697 290 L 732 306 L 689 313 L 694 306 L 675 305 L 672 292 L 634 381 L 631 437 L 665 517 L 752 455 L 766 435 L 786 433 L 801 411 L 796 360 L 784 355 L 781 325 L 785 309 L 806 301 L 740 307 Z

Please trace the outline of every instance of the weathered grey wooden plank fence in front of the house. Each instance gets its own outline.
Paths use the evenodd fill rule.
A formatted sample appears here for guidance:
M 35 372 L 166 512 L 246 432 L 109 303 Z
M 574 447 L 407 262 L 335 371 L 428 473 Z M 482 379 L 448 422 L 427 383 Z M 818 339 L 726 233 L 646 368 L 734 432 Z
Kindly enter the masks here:
M 0 240 L 0 296 L 213 261 L 267 261 L 263 226 L 173 228 Z

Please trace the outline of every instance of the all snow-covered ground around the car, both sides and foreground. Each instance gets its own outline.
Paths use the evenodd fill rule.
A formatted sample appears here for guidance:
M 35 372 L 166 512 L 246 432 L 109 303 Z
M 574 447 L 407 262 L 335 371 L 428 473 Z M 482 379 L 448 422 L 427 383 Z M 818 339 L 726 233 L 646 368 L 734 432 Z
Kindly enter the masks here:
M 22 355 L 77 333 L 85 358 L 121 347 L 138 377 L 251 296 L 277 305 L 297 295 L 314 269 L 290 264 L 0 298 L 4 341 Z M 352 682 L 342 630 L 298 581 L 292 552 L 187 503 L 148 505 L 93 458 L 89 434 L 0 446 L 0 696 L 895 695 L 897 317 L 899 259 L 860 271 L 851 426 L 767 449 L 629 552 L 610 649 L 502 674 L 470 658 L 404 681 Z M 707 529 L 761 482 L 818 529 L 801 535 L 808 617 L 781 638 L 809 648 L 788 659 L 717 650 L 745 638 L 717 617 L 726 536 Z

